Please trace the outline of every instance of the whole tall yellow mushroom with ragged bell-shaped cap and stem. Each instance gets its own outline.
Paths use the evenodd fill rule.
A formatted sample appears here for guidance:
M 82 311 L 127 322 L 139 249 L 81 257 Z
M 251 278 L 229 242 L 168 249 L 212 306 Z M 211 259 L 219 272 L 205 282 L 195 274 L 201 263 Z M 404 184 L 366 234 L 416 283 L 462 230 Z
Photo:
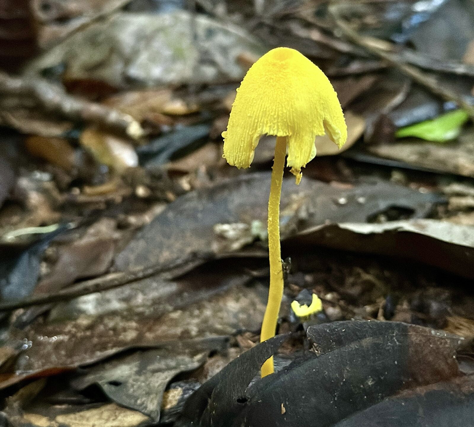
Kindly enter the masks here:
M 275 135 L 270 198 L 268 249 L 270 290 L 260 341 L 275 335 L 283 297 L 280 254 L 280 194 L 286 165 L 301 181 L 301 168 L 314 158 L 317 135 L 325 133 L 339 147 L 347 127 L 337 94 L 326 75 L 308 58 L 287 47 L 263 55 L 248 70 L 237 89 L 224 138 L 224 157 L 233 166 L 247 168 L 262 135 Z M 262 366 L 262 376 L 273 373 L 273 358 Z

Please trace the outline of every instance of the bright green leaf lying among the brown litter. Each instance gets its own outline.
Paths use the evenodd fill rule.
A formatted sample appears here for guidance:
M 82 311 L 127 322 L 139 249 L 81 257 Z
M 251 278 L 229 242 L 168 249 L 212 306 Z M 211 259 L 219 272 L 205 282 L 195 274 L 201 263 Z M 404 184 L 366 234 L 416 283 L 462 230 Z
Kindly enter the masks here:
M 397 138 L 416 136 L 427 141 L 445 142 L 457 138 L 469 115 L 462 109 L 450 111 L 441 116 L 416 125 L 401 127 L 395 133 Z

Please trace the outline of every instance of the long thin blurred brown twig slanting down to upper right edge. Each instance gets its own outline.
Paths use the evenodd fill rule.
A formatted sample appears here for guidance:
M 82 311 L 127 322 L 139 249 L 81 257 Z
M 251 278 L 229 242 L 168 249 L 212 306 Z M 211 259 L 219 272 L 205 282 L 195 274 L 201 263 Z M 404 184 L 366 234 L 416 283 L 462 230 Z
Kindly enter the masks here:
M 378 56 L 379 58 L 384 59 L 395 68 L 398 68 L 402 73 L 410 76 L 415 82 L 428 88 L 432 93 L 441 99 L 455 102 L 460 108 L 465 109 L 469 116 L 474 119 L 474 107 L 466 102 L 461 95 L 450 91 L 445 87 L 442 87 L 435 78 L 422 73 L 418 68 L 402 62 L 400 56 L 384 51 L 378 48 L 374 43 L 369 43 L 363 36 L 360 36 L 342 18 L 339 17 L 336 9 L 336 6 L 330 6 L 328 8 L 335 20 L 337 27 L 349 40 L 351 40 L 356 45 L 364 47 L 367 51 Z

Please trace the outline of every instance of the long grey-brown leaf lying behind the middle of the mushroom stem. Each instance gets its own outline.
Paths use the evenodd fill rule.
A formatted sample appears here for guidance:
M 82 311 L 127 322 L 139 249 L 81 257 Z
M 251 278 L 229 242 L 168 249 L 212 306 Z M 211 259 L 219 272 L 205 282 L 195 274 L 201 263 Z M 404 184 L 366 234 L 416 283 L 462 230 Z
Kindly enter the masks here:
M 116 267 L 128 270 L 168 263 L 192 253 L 227 252 L 228 245 L 216 235 L 215 225 L 250 225 L 255 220 L 264 224 L 270 177 L 271 173 L 242 175 L 180 197 L 136 234 L 116 257 Z M 309 178 L 296 186 L 294 179 L 288 178 L 282 187 L 282 234 L 288 236 L 295 228 L 327 222 L 366 222 L 391 207 L 423 218 L 433 203 L 441 200 L 435 194 L 391 182 L 340 188 Z

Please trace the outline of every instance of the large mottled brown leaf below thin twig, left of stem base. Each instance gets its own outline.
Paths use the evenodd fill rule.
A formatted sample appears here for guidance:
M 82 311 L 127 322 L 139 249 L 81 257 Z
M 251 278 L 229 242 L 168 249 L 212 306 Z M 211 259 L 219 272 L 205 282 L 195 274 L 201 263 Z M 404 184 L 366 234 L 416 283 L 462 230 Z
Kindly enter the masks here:
M 3 372 L 0 388 L 31 375 L 47 376 L 91 364 L 129 348 L 258 330 L 266 292 L 263 286 L 243 286 L 248 279 L 247 274 L 210 269 L 174 281 L 158 276 L 132 283 L 102 292 L 99 299 L 94 294 L 81 297 L 75 301 L 75 313 L 66 307 L 50 322 L 11 330 L 11 346 L 26 343 L 27 349 Z

